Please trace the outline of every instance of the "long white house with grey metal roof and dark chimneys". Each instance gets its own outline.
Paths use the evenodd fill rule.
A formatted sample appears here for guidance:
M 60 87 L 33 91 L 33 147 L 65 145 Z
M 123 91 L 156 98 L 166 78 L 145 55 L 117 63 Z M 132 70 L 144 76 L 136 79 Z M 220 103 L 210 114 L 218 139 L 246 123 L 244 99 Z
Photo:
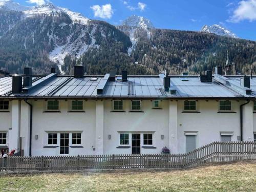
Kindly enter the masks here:
M 0 79 L 0 148 L 25 156 L 186 153 L 256 139 L 256 76 L 24 75 Z

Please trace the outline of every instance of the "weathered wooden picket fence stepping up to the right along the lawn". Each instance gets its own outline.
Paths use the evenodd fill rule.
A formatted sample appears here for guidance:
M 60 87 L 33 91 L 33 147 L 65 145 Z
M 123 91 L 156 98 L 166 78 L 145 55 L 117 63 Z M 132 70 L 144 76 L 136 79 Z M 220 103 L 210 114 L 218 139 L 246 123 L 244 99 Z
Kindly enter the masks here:
M 0 172 L 185 168 L 242 159 L 256 159 L 256 142 L 213 142 L 186 154 L 7 157 L 0 158 Z

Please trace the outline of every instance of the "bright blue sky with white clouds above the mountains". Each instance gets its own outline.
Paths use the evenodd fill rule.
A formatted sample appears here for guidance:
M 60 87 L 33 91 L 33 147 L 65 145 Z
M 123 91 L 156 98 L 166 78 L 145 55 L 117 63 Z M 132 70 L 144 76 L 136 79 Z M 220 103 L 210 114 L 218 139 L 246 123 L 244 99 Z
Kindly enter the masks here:
M 15 0 L 14 0 L 15 1 Z M 16 0 L 22 5 L 46 0 Z M 256 40 L 256 0 L 51 0 L 59 7 L 80 12 L 91 19 L 118 25 L 136 14 L 156 28 L 199 31 L 203 25 L 220 24 L 240 38 Z

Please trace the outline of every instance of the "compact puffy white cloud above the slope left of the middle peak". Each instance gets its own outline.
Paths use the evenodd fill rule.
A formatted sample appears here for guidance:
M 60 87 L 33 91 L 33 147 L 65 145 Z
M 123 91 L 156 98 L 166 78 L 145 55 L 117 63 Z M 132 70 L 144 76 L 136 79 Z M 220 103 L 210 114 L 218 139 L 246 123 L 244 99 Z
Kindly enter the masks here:
M 114 14 L 111 4 L 106 4 L 102 6 L 94 5 L 91 7 L 91 9 L 93 10 L 95 17 L 111 18 Z

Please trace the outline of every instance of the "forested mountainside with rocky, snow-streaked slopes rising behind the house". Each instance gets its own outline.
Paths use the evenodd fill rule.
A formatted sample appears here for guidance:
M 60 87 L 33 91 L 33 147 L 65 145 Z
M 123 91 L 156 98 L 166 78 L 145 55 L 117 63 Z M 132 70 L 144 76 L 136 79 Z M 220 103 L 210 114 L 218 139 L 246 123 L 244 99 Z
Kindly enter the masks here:
M 50 73 L 58 66 L 72 74 L 83 65 L 87 74 L 110 69 L 129 74 L 168 74 L 225 65 L 226 51 L 237 71 L 249 71 L 256 42 L 205 32 L 156 29 L 150 20 L 132 15 L 120 26 L 89 19 L 80 13 L 47 3 L 37 7 L 0 6 L 0 69 L 23 73 Z M 255 63 L 256 66 L 256 63 Z M 255 67 L 256 68 L 256 67 Z

